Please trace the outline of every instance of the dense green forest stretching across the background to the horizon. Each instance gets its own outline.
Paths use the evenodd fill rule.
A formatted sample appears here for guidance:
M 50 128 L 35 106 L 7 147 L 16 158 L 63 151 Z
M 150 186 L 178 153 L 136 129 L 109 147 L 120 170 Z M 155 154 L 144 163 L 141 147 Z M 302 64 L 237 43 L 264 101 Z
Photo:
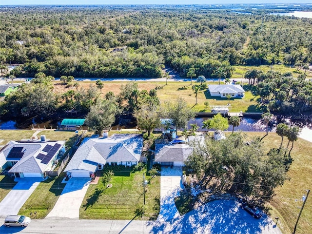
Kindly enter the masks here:
M 199 7 L 6 7 L 0 9 L 0 64 L 34 76 L 230 77 L 232 65 L 311 62 L 312 20 L 234 14 Z M 113 48 L 117 47 L 117 51 Z M 1 68 L 1 72 L 5 71 Z

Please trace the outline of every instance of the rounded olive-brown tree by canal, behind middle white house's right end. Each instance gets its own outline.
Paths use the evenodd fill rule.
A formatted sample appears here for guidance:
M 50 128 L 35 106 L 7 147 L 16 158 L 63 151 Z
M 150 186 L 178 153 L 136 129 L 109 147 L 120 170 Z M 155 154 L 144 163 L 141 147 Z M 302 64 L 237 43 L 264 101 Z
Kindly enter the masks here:
M 137 119 L 137 126 L 145 129 L 148 137 L 151 136 L 151 131 L 160 126 L 159 106 L 154 103 L 142 105 L 135 111 L 134 117 Z

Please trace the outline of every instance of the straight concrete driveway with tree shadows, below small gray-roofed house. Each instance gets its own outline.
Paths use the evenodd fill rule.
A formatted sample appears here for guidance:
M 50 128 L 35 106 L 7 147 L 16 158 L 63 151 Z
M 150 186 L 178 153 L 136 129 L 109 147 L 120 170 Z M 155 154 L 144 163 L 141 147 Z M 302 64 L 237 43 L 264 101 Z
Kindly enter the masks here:
M 181 167 L 161 167 L 160 177 L 160 213 L 158 221 L 169 221 L 180 216 L 175 204 L 175 197 L 181 189 Z

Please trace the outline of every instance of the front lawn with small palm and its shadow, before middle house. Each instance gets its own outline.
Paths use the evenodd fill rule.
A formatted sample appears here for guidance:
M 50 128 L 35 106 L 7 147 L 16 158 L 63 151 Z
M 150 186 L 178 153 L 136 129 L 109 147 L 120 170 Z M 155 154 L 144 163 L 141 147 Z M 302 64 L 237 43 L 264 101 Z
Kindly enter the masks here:
M 80 207 L 80 219 L 144 219 L 155 220 L 159 214 L 160 176 L 145 176 L 150 183 L 146 186 L 144 215 L 143 208 L 143 172 L 125 169 L 115 172 L 106 188 L 101 182 L 90 184 Z

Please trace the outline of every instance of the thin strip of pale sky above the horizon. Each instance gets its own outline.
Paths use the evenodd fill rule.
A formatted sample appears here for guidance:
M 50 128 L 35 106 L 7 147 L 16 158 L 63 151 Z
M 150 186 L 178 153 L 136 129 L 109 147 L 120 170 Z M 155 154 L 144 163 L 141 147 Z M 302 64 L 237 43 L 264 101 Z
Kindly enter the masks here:
M 312 0 L 0 0 L 0 5 L 312 3 Z

